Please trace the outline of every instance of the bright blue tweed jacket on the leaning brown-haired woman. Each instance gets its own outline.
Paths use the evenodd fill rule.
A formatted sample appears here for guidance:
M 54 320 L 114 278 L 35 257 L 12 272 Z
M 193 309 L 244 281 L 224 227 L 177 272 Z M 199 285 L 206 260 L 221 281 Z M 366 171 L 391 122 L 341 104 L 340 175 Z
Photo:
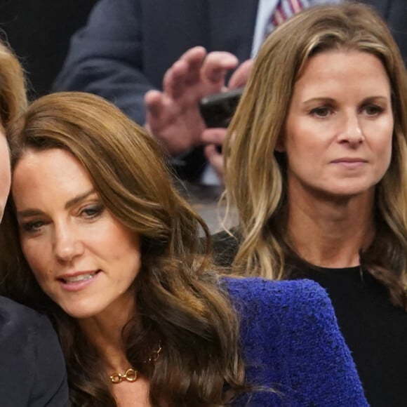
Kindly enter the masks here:
M 368 406 L 326 292 L 308 280 L 223 280 L 241 319 L 246 379 L 233 406 Z

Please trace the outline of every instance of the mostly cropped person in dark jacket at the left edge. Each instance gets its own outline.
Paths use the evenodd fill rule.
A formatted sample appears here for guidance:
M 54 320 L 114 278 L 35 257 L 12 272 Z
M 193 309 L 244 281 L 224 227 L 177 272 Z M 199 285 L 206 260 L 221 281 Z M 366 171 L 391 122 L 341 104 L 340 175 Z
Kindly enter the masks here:
M 0 42 L 0 220 L 10 192 L 10 153 L 5 128 L 27 106 L 20 63 Z M 0 246 L 6 251 L 7 246 Z M 1 273 L 6 272 L 1 269 Z M 4 281 L 0 279 L 0 292 Z M 67 406 L 65 362 L 48 318 L 0 296 L 0 405 Z

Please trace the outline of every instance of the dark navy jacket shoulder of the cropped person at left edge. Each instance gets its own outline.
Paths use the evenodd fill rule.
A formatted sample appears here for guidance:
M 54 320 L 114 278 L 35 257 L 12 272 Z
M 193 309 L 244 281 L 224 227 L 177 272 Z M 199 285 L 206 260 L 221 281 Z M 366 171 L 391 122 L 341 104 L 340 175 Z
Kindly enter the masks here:
M 64 357 L 50 321 L 4 297 L 0 297 L 0 406 L 68 406 Z

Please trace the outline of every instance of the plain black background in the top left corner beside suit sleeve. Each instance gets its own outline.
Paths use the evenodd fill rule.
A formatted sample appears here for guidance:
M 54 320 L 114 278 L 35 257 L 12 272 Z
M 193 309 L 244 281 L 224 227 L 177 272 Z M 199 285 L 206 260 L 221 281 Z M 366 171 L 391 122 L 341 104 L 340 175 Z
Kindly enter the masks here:
M 86 23 L 96 0 L 0 0 L 0 37 L 25 68 L 29 98 L 50 90 L 69 38 Z

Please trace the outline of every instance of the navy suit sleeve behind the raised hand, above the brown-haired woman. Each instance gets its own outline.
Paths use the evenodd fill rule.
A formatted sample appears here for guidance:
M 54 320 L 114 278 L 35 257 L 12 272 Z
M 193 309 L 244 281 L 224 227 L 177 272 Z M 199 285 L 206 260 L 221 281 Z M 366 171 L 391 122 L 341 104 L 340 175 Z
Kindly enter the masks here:
M 72 36 L 53 91 L 83 91 L 110 100 L 144 124 L 144 95 L 152 84 L 142 74 L 140 1 L 100 0 L 86 27 Z

